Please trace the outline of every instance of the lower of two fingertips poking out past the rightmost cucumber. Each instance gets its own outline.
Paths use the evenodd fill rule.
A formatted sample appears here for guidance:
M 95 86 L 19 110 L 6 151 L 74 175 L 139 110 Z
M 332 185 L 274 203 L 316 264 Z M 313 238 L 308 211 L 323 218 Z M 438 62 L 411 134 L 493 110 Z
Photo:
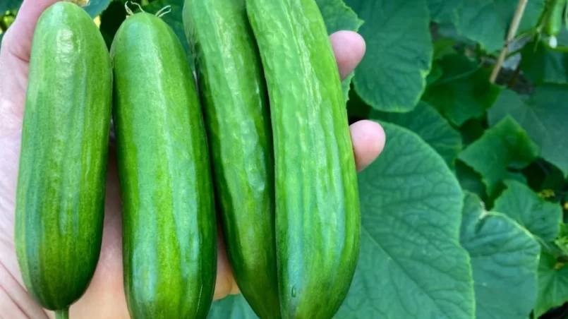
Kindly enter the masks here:
M 358 121 L 351 124 L 351 140 L 355 153 L 357 171 L 362 171 L 373 163 L 385 148 L 385 130 L 374 121 Z

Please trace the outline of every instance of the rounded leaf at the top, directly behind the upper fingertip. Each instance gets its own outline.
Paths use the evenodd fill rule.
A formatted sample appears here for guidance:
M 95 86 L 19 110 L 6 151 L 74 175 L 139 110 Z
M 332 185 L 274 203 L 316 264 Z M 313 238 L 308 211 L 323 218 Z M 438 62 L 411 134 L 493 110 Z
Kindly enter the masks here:
M 375 109 L 408 112 L 422 95 L 432 60 L 426 0 L 347 0 L 365 20 L 367 52 L 356 68 L 358 95 Z

